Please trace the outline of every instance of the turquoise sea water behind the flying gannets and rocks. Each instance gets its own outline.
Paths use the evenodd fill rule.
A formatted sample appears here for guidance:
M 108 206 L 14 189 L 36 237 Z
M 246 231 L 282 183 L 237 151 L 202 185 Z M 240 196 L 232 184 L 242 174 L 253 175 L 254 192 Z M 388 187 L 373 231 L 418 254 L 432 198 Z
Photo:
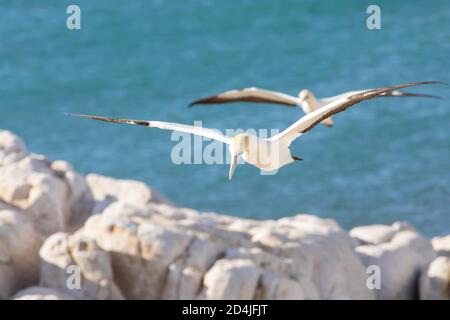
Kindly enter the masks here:
M 66 7 L 82 29 L 66 29 Z M 450 3 L 377 1 L 1 1 L 0 128 L 83 173 L 142 180 L 181 206 L 257 219 L 310 213 L 343 227 L 412 222 L 450 232 L 450 90 L 444 99 L 380 99 L 292 145 L 305 161 L 260 176 L 238 166 L 170 161 L 170 133 L 64 112 L 206 127 L 283 129 L 277 106 L 187 109 L 245 86 L 317 96 L 417 80 L 450 82 Z

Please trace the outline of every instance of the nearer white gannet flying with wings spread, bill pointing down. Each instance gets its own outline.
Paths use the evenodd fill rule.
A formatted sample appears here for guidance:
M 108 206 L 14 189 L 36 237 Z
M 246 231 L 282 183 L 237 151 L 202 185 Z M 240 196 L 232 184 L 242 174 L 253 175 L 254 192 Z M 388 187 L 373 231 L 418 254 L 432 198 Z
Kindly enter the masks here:
M 398 89 L 434 83 L 439 82 L 412 82 L 383 88 L 352 91 L 341 94 L 319 109 L 306 114 L 282 132 L 273 135 L 268 139 L 259 138 L 248 133 L 241 133 L 235 136 L 225 136 L 220 133 L 220 131 L 215 129 L 208 129 L 204 127 L 196 127 L 172 122 L 117 119 L 83 114 L 69 115 L 106 122 L 135 124 L 145 127 L 159 128 L 163 130 L 185 132 L 221 141 L 228 145 L 228 149 L 231 154 L 231 163 L 228 173 L 228 177 L 229 179 L 231 179 L 237 162 L 241 156 L 245 162 L 254 165 L 260 170 L 277 170 L 289 163 L 294 162 L 295 160 L 301 160 L 301 158 L 293 156 L 291 154 L 291 151 L 289 149 L 291 143 L 332 115 L 345 111 L 361 101 L 383 97 L 386 96 L 386 94 L 392 94 L 393 92 L 397 92 Z

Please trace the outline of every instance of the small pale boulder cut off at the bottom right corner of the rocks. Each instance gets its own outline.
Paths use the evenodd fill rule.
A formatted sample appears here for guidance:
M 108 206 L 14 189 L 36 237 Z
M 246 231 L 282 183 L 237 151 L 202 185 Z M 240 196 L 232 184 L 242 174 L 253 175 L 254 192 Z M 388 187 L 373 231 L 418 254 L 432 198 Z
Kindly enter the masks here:
M 422 273 L 420 299 L 450 300 L 450 258 L 437 257 Z

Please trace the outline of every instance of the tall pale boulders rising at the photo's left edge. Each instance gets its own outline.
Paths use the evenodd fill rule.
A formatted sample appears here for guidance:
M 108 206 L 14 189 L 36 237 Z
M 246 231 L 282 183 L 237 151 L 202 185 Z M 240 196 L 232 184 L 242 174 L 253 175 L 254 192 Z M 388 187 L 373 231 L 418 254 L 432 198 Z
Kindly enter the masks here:
M 0 298 L 36 283 L 37 252 L 47 236 L 65 228 L 68 200 L 69 189 L 51 162 L 0 131 Z

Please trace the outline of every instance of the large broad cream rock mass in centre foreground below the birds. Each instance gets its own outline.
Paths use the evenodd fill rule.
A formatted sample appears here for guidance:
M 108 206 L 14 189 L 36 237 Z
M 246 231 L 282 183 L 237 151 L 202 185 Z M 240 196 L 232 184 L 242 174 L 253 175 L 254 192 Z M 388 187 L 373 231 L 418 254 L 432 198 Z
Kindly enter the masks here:
M 104 261 L 86 259 L 96 264 L 83 267 L 67 254 L 70 247 L 82 247 L 86 257 L 102 253 Z M 253 221 L 115 202 L 74 235 L 49 238 L 41 258 L 41 285 L 72 295 L 65 286 L 69 265 L 79 266 L 83 279 L 84 270 L 114 270 L 89 277 L 89 286 L 100 288 L 103 281 L 108 294 L 81 289 L 83 299 L 111 298 L 112 292 L 127 299 L 373 297 L 350 237 L 334 222 L 307 215 Z

